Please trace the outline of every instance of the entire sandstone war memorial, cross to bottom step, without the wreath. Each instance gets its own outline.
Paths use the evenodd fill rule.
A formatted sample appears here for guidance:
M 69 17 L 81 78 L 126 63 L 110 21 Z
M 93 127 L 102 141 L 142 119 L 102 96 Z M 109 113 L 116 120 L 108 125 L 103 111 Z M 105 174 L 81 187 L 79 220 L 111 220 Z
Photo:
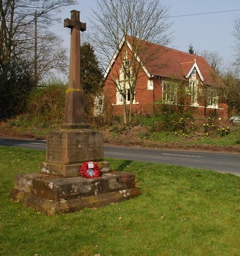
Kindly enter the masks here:
M 71 11 L 71 20 L 64 21 L 64 26 L 71 28 L 65 121 L 61 130 L 47 136 L 46 162 L 41 164 L 41 173 L 17 175 L 10 193 L 13 200 L 49 215 L 118 203 L 140 195 L 134 174 L 109 171 L 109 162 L 103 161 L 103 135 L 85 123 L 80 85 L 80 31 L 86 30 L 86 23 L 80 22 L 79 13 Z M 87 161 L 97 163 L 101 177 L 80 176 L 80 167 Z

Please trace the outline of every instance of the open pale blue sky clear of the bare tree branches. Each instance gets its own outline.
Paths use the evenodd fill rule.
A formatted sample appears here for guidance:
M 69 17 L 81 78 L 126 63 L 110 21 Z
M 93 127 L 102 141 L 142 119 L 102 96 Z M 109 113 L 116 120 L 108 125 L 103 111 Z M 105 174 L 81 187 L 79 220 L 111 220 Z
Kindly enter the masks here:
M 79 10 L 80 19 L 87 23 L 88 28 L 91 26 L 89 17 L 92 9 L 96 8 L 96 1 L 80 0 L 79 2 L 80 4 L 65 8 L 61 17 L 62 19 L 70 18 L 70 10 Z M 169 47 L 188 52 L 189 44 L 193 44 L 197 52 L 202 50 L 218 52 L 224 58 L 226 65 L 234 61 L 233 20 L 236 16 L 240 17 L 240 0 L 161 0 L 160 2 L 170 8 L 169 16 L 182 16 L 169 19 L 173 22 L 172 31 L 174 31 L 174 38 Z M 199 15 L 188 16 L 188 14 Z M 69 47 L 68 29 L 58 24 L 53 26 L 53 31 L 62 35 L 64 46 Z

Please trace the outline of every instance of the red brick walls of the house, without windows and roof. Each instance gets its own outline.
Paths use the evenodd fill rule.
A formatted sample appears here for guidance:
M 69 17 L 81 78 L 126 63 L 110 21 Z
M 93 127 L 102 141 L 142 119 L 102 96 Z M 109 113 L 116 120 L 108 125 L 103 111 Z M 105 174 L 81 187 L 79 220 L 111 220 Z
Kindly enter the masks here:
M 125 49 L 126 50 L 126 49 Z M 123 54 L 122 51 L 119 54 Z M 131 59 L 131 52 L 128 49 L 129 59 Z M 104 99 L 107 102 L 109 108 L 112 108 L 111 113 L 113 115 L 122 115 L 123 106 L 117 105 L 116 103 L 116 87 L 113 81 L 118 78 L 119 69 L 121 69 L 121 59 L 119 56 L 115 59 L 115 62 L 107 75 L 104 84 Z M 198 89 L 202 90 L 200 77 L 196 73 L 196 79 L 198 81 Z M 148 90 L 148 81 L 153 81 L 153 90 Z M 187 81 L 186 81 L 187 82 Z M 161 78 L 148 78 L 143 69 L 139 72 L 139 79 L 137 80 L 136 90 L 135 90 L 135 104 L 133 105 L 133 114 L 143 114 L 143 115 L 154 115 L 159 111 L 160 103 L 163 93 L 162 79 Z M 190 99 L 190 95 L 189 95 Z M 219 103 L 218 109 L 205 108 L 204 100 L 200 100 L 199 107 L 193 107 L 194 116 L 196 118 L 205 118 L 211 113 L 217 114 L 220 118 L 227 118 L 227 105 Z M 127 105 L 127 108 L 129 105 Z

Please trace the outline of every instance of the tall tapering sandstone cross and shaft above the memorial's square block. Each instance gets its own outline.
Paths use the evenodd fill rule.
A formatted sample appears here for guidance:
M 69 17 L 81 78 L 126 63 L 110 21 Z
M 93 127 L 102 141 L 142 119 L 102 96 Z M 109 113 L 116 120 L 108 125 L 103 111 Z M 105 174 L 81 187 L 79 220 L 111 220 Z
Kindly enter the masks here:
M 65 122 L 62 129 L 85 129 L 85 104 L 80 81 L 80 31 L 86 23 L 80 22 L 80 11 L 72 10 L 71 19 L 64 20 L 64 28 L 71 28 L 69 81 L 65 96 Z

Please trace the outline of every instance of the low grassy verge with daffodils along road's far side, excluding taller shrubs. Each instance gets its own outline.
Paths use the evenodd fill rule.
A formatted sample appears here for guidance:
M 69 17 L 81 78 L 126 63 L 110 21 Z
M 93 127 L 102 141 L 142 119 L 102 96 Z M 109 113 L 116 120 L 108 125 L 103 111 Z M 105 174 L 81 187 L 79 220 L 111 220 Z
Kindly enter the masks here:
M 240 126 L 229 124 L 229 133 L 224 135 L 216 129 L 216 127 L 220 127 L 220 130 L 227 127 L 221 122 L 215 126 L 215 130 L 212 130 L 210 125 L 203 127 L 203 124 L 196 123 L 190 127 L 190 132 L 186 127 L 181 126 L 176 129 L 176 132 L 166 131 L 161 129 L 160 124 L 157 117 L 139 117 L 131 126 L 125 126 L 121 120 L 110 125 L 101 125 L 99 121 L 90 125 L 93 129 L 101 130 L 104 142 L 109 144 L 240 152 Z M 1 121 L 0 136 L 46 139 L 47 133 L 60 129 L 60 126 L 60 120 L 52 123 L 44 120 L 42 116 L 40 118 L 21 115 L 11 120 Z

